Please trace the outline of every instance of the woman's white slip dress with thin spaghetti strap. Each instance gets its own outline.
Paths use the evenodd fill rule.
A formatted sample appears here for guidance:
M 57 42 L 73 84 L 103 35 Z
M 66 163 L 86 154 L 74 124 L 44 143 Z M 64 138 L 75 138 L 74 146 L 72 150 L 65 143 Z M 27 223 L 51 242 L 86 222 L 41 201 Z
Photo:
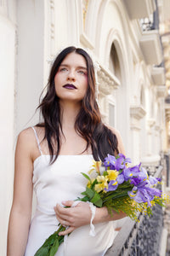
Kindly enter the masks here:
M 34 130 L 35 131 L 35 130 Z M 35 131 L 36 134 L 36 131 Z M 37 137 L 37 134 L 36 134 Z M 33 187 L 37 196 L 37 210 L 31 220 L 25 256 L 33 256 L 42 243 L 58 229 L 54 206 L 61 201 L 75 200 L 85 190 L 93 155 L 59 155 L 53 165 L 50 156 L 42 154 L 34 161 Z M 90 226 L 82 226 L 68 236 L 66 247 L 59 246 L 55 256 L 102 256 L 116 236 L 113 221 L 94 224 L 96 236 L 89 236 Z M 65 251 L 65 252 L 64 252 Z

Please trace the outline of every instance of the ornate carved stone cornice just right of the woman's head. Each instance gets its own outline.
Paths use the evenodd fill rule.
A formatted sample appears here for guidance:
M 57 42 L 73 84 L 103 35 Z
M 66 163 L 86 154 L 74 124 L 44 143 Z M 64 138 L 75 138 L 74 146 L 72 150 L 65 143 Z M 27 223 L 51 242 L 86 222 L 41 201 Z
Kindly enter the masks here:
M 99 92 L 105 95 L 111 95 L 112 90 L 117 89 L 120 85 L 119 80 L 110 71 L 106 70 L 105 67 L 100 65 L 98 72 L 99 80 Z

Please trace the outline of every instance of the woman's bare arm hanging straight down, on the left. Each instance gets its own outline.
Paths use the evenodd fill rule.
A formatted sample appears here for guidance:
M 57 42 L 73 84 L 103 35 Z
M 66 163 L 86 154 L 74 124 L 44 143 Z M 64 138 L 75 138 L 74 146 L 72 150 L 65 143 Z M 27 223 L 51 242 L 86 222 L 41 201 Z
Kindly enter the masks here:
M 15 150 L 14 198 L 8 223 L 7 256 L 23 256 L 31 221 L 32 131 L 21 131 Z

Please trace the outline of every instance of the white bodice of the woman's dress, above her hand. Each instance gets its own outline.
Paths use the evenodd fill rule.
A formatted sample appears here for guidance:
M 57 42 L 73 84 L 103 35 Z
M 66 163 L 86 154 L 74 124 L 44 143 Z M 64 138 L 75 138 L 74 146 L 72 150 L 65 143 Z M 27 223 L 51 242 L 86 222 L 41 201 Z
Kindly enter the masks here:
M 54 214 L 56 203 L 82 197 L 88 180 L 81 172 L 88 173 L 93 164 L 93 155 L 59 155 L 52 165 L 49 165 L 49 160 L 50 155 L 42 154 L 34 161 L 32 182 L 37 209 Z

